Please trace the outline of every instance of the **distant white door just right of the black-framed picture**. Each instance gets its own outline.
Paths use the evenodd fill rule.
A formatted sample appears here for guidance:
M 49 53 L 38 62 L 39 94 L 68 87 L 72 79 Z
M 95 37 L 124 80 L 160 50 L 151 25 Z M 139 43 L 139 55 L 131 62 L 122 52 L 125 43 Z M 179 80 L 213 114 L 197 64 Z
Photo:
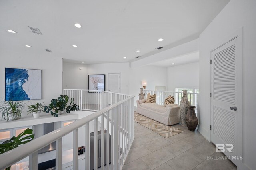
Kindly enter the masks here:
M 109 73 L 108 74 L 108 91 L 114 93 L 120 93 L 121 81 L 120 73 Z

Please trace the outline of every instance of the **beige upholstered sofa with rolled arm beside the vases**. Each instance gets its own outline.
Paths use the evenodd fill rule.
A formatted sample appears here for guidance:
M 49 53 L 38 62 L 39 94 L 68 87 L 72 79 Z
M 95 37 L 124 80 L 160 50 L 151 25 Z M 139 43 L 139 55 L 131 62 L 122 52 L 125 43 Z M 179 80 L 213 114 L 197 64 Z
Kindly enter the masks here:
M 145 103 L 146 99 L 137 100 L 137 113 L 150 119 L 163 123 L 165 125 L 174 125 L 180 123 L 180 106 L 158 105 L 156 103 Z

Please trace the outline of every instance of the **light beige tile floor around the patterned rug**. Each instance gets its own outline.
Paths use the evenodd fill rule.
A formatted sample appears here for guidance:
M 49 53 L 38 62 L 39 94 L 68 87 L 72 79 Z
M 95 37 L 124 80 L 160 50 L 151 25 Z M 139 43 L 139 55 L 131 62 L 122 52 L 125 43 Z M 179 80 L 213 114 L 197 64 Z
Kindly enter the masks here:
M 169 138 L 134 122 L 135 138 L 122 170 L 236 170 L 228 159 L 207 160 L 216 153 L 214 144 L 199 132 L 185 130 Z

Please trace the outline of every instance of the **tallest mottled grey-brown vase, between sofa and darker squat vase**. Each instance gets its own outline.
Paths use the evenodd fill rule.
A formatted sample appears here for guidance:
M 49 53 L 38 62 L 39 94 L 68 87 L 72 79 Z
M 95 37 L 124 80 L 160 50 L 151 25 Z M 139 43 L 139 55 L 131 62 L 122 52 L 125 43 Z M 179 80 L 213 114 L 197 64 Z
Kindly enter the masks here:
M 180 125 L 183 127 L 188 127 L 186 123 L 186 115 L 188 113 L 188 105 L 190 105 L 187 97 L 187 90 L 182 90 L 183 97 L 180 101 Z

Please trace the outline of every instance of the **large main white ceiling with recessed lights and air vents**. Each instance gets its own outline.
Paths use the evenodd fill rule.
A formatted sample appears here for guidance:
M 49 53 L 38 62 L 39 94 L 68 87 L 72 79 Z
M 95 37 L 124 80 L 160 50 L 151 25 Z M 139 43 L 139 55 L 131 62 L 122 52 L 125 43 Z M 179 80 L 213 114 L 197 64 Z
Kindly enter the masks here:
M 181 40 L 198 37 L 228 2 L 1 0 L 0 50 L 52 55 L 87 64 L 133 61 L 138 55 L 148 56 L 156 47 L 165 50 Z M 76 22 L 82 28 L 74 27 Z M 33 34 L 28 26 L 39 28 L 43 35 Z M 164 41 L 158 42 L 158 38 Z

